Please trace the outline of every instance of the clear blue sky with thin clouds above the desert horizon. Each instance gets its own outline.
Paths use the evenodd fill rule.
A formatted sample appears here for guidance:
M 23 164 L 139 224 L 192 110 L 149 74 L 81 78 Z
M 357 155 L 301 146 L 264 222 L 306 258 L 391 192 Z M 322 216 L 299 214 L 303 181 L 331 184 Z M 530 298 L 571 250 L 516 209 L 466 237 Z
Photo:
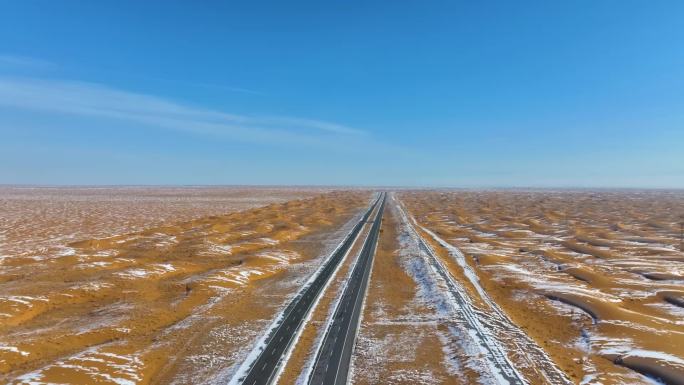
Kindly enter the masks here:
M 0 183 L 684 188 L 684 2 L 0 5 Z

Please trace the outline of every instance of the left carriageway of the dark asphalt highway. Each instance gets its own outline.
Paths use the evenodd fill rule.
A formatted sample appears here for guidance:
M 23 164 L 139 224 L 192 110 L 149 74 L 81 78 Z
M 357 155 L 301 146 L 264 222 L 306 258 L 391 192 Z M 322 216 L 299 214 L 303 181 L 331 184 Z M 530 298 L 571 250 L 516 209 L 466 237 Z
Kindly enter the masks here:
M 326 265 L 320 270 L 320 273 L 316 276 L 314 281 L 288 305 L 283 313 L 282 322 L 266 339 L 265 348 L 254 361 L 247 372 L 247 375 L 239 380 L 239 382 L 245 385 L 257 385 L 270 384 L 273 381 L 281 365 L 282 358 L 285 356 L 293 342 L 294 336 L 297 334 L 297 331 L 302 326 L 304 319 L 311 310 L 311 306 L 315 303 L 316 298 L 318 298 L 328 280 L 337 269 L 337 266 L 354 244 L 371 213 L 380 202 L 382 202 L 381 205 L 384 205 L 384 194 L 373 202 L 361 220 L 359 220 L 344 239 L 340 247 L 338 247 L 328 259 Z

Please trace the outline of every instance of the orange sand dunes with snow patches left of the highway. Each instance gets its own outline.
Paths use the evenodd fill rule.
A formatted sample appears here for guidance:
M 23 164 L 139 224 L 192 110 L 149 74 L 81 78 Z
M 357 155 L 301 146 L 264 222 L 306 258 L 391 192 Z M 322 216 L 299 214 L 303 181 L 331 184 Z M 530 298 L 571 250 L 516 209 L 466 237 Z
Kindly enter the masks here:
M 298 266 L 315 263 L 326 234 L 367 201 L 368 193 L 333 192 L 74 241 L 49 259 L 6 258 L 0 378 L 172 383 L 197 370 L 217 375 L 241 346 L 215 348 L 225 353 L 207 357 L 215 364 L 207 370 L 196 353 L 211 343 L 201 343 L 204 333 L 224 343 L 252 335 L 240 332 L 245 323 L 267 322 L 307 273 Z M 250 309 L 268 287 L 277 295 Z

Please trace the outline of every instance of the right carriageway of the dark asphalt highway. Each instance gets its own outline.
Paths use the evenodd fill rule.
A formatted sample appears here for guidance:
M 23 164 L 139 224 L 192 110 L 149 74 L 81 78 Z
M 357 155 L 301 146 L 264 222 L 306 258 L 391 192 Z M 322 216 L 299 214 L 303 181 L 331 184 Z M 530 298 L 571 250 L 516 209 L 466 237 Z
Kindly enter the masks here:
M 314 369 L 309 377 L 311 385 L 344 385 L 354 350 L 356 332 L 360 322 L 363 300 L 368 287 L 373 256 L 380 234 L 385 194 L 370 233 L 359 254 L 354 270 L 347 280 L 342 298 L 335 309 L 333 321 L 326 331 L 317 353 Z

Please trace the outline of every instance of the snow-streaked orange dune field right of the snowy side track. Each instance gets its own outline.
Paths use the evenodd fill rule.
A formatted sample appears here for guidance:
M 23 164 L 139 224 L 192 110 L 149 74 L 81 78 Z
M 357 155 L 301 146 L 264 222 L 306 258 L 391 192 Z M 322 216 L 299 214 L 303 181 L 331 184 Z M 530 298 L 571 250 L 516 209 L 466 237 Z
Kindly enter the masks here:
M 422 225 L 466 253 L 487 292 L 576 382 L 684 373 L 684 255 L 673 210 L 683 206 L 681 192 L 401 198 Z

